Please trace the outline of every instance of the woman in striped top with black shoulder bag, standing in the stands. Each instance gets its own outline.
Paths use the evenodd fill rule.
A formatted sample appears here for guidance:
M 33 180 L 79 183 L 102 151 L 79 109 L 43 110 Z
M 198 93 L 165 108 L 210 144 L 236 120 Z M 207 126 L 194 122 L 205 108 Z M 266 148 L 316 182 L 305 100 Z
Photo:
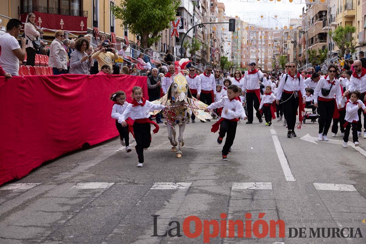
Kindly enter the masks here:
M 25 38 L 28 41 L 26 44 L 26 52 L 27 52 L 27 63 L 26 65 L 34 66 L 34 60 L 36 59 L 36 53 L 38 48 L 41 48 L 41 43 L 38 41 L 38 37 L 40 33 L 33 26 L 34 21 L 36 20 L 36 15 L 33 13 L 29 13 L 27 16 L 27 20 L 24 25 L 24 34 Z M 39 46 L 38 46 L 39 44 Z

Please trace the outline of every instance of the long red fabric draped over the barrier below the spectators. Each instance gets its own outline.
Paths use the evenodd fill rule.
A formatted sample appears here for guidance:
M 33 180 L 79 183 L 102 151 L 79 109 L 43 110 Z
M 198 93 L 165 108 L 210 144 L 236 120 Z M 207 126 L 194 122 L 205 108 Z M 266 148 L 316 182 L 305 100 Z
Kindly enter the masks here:
M 109 95 L 132 87 L 147 96 L 146 77 L 53 75 L 0 77 L 0 185 L 43 162 L 118 135 Z

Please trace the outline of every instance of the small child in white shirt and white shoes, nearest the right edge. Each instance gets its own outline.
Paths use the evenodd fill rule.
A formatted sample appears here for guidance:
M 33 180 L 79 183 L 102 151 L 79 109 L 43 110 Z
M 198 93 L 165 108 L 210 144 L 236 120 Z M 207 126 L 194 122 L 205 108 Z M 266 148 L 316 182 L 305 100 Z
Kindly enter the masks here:
M 357 125 L 358 125 L 358 109 L 362 108 L 363 112 L 366 113 L 366 106 L 363 104 L 361 100 L 359 100 L 360 93 L 359 91 L 352 91 L 351 98 L 346 103 L 346 122 L 344 123 L 344 136 L 343 136 L 343 147 L 347 147 L 348 136 L 350 135 L 350 129 L 352 126 L 352 139 L 355 143 L 355 147 L 358 147 L 360 143 L 358 143 L 358 133 L 357 133 Z

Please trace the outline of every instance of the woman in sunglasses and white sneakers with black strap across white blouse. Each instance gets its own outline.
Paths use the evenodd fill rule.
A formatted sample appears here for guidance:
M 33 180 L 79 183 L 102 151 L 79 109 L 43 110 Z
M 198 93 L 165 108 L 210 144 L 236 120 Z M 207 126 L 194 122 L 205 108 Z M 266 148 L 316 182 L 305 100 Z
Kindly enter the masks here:
M 341 108 L 342 93 L 339 80 L 336 78 L 337 71 L 337 66 L 330 64 L 328 67 L 329 75 L 320 78 L 314 90 L 314 106 L 318 107 L 320 115 L 318 141 L 328 141 L 326 135 L 332 119 L 339 118 L 338 109 Z

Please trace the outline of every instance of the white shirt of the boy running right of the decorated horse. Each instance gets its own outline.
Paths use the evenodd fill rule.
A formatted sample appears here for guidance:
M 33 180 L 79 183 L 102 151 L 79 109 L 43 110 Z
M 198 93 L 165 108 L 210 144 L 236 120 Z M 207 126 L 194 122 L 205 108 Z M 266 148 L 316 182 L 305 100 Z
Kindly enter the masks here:
M 223 108 L 221 117 L 228 120 L 238 119 L 239 117 L 242 117 L 242 119 L 244 119 L 244 117 L 246 117 L 242 103 L 236 99 L 230 101 L 230 99 L 226 96 L 221 98 L 221 100 L 218 102 L 213 102 L 207 108 L 208 109 Z M 228 110 L 227 113 L 225 112 L 226 109 Z

